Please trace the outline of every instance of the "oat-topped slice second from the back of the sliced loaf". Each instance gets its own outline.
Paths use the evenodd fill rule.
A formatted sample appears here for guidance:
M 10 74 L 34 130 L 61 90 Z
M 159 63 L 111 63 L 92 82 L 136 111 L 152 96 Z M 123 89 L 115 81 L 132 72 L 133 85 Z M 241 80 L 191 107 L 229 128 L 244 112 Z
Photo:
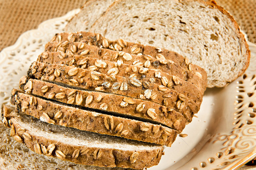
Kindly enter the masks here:
M 179 65 L 177 65 L 174 61 L 171 60 L 165 60 L 163 55 L 157 55 L 156 58 L 149 56 L 149 55 L 135 55 L 135 54 L 129 54 L 125 53 L 123 51 L 115 51 L 115 50 L 109 50 L 104 48 L 99 48 L 94 45 L 86 45 L 83 42 L 67 42 L 64 41 L 61 44 L 60 43 L 53 43 L 52 45 L 55 47 L 54 51 L 58 53 L 49 52 L 46 50 L 44 53 L 39 55 L 38 60 L 40 62 L 43 62 L 44 60 L 51 60 L 53 58 L 52 55 L 55 54 L 54 57 L 57 59 L 63 59 L 67 60 L 73 59 L 74 55 L 77 55 L 77 57 L 89 56 L 96 59 L 103 59 L 108 61 L 118 61 L 119 63 L 127 64 L 127 65 L 136 65 L 136 67 L 145 67 L 148 69 L 159 69 L 165 72 L 166 74 L 174 75 L 179 77 L 182 80 L 191 82 L 192 84 L 195 84 L 197 88 L 201 91 L 202 95 L 205 91 L 205 84 L 206 80 L 203 80 L 198 77 L 198 75 L 201 77 L 199 72 L 196 72 L 197 75 L 195 75 L 193 72 L 189 70 L 193 70 L 192 66 L 189 65 L 189 62 L 187 61 L 187 69 L 181 68 Z M 82 67 L 86 67 L 87 65 L 82 65 L 84 60 L 80 61 Z M 72 64 L 72 61 L 70 62 Z M 97 69 L 97 67 L 91 67 L 92 69 Z M 189 69 L 189 70 L 188 70 Z M 123 69 L 123 71 L 125 71 Z M 138 71 L 138 70 L 137 70 Z

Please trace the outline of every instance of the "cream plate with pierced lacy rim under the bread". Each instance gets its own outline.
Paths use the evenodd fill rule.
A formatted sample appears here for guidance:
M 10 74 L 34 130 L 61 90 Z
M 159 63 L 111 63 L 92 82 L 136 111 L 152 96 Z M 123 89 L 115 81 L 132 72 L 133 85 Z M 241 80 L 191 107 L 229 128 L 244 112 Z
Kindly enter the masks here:
M 47 20 L 20 35 L 15 45 L 0 53 L 0 104 L 18 88 L 32 61 L 47 41 L 79 10 Z M 207 89 L 193 121 L 186 126 L 159 165 L 149 170 L 236 170 L 256 156 L 256 45 L 250 44 L 251 64 L 246 73 L 225 88 Z

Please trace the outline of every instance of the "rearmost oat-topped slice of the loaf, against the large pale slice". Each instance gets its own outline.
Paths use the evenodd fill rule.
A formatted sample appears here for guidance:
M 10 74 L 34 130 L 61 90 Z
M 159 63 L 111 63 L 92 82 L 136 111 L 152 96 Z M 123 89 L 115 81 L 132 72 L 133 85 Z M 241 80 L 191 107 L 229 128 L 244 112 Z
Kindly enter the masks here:
M 119 39 L 119 38 L 117 38 Z M 56 51 L 59 45 L 67 45 L 69 42 L 84 42 L 88 45 L 96 45 L 102 49 L 111 49 L 117 51 L 123 51 L 129 54 L 137 55 L 148 55 L 156 59 L 157 56 L 163 55 L 166 60 L 174 61 L 176 65 L 183 68 L 187 72 L 197 73 L 198 78 L 203 80 L 207 79 L 207 75 L 204 69 L 198 65 L 194 65 L 189 62 L 188 58 L 184 58 L 182 55 L 175 53 L 174 51 L 169 51 L 153 46 L 136 44 L 131 42 L 126 42 L 125 40 L 119 39 L 115 41 L 107 40 L 100 34 L 90 33 L 90 32 L 78 32 L 78 33 L 59 33 L 56 34 L 49 43 L 45 46 L 45 51 Z M 53 46 L 54 45 L 54 46 Z M 148 59 L 147 59 L 148 60 Z M 145 60 L 146 61 L 146 60 Z M 161 67 L 160 61 L 165 63 L 166 61 L 162 59 L 162 56 L 157 60 L 154 65 Z M 167 61 L 168 62 L 168 61 Z M 160 63 L 160 64 L 159 64 Z M 190 64 L 190 65 L 189 65 Z M 207 84 L 207 82 L 205 82 Z M 205 85 L 205 84 L 203 84 Z M 205 85 L 206 86 L 206 85 Z

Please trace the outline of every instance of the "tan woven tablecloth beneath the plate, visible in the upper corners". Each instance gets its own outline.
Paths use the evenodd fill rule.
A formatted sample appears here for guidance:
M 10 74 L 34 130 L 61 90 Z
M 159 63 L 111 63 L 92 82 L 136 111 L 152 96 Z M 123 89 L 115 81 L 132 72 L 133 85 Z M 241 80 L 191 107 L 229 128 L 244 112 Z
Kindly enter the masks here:
M 0 0 L 0 51 L 44 20 L 65 15 L 86 0 Z M 234 16 L 248 40 L 256 43 L 256 0 L 216 0 Z M 243 167 L 243 170 L 246 169 Z M 256 169 L 254 169 L 256 170 Z

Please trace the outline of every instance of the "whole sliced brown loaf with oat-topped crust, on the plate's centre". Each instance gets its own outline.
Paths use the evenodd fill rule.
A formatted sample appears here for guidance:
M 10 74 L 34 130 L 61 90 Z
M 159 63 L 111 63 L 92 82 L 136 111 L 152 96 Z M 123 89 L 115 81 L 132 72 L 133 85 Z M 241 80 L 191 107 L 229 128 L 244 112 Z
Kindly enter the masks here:
M 27 73 L 11 92 L 15 108 L 2 106 L 10 135 L 100 167 L 157 165 L 207 86 L 205 70 L 173 51 L 89 32 L 56 34 Z

